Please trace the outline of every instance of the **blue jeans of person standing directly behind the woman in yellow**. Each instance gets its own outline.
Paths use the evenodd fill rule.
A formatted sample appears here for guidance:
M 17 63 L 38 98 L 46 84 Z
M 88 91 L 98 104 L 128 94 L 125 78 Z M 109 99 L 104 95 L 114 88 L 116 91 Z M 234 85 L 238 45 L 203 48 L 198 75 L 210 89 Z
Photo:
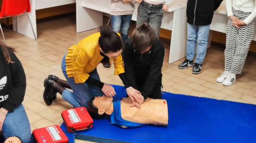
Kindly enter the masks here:
M 121 32 L 121 38 L 125 43 L 128 38 L 129 27 L 131 24 L 132 15 L 111 15 L 111 27 L 116 33 Z

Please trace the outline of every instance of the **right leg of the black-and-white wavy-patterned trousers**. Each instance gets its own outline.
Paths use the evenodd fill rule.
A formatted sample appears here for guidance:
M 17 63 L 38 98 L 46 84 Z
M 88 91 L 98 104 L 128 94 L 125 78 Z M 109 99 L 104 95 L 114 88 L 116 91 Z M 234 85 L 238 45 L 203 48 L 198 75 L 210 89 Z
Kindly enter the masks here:
M 241 74 L 242 68 L 244 68 L 245 59 L 250 48 L 251 40 L 253 39 L 254 26 L 255 20 L 248 25 L 241 26 L 238 30 L 238 35 L 236 37 L 235 56 L 232 60 L 230 73 Z

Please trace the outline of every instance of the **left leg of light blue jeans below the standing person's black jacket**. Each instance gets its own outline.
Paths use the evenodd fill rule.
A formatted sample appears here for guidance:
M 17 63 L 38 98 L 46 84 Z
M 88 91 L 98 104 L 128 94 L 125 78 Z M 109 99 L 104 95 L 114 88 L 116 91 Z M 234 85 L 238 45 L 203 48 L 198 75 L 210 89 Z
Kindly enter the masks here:
M 196 50 L 197 25 L 187 24 L 187 53 L 188 60 L 193 61 Z

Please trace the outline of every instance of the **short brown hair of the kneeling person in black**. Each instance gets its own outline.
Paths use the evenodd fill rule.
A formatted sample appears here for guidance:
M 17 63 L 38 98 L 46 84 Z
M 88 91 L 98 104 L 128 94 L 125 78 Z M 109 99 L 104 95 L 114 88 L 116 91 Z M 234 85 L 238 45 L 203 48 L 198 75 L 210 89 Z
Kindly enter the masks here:
M 145 22 L 136 27 L 132 33 L 132 44 L 138 53 L 141 53 L 148 47 L 152 46 L 155 39 L 155 29 Z

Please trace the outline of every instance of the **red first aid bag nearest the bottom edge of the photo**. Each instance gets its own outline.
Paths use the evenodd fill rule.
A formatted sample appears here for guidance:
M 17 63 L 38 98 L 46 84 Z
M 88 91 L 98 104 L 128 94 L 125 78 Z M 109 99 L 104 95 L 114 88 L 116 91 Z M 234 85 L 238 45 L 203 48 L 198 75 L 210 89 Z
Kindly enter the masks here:
M 68 137 L 66 137 L 60 126 L 57 125 L 35 129 L 32 134 L 37 143 L 69 142 Z

